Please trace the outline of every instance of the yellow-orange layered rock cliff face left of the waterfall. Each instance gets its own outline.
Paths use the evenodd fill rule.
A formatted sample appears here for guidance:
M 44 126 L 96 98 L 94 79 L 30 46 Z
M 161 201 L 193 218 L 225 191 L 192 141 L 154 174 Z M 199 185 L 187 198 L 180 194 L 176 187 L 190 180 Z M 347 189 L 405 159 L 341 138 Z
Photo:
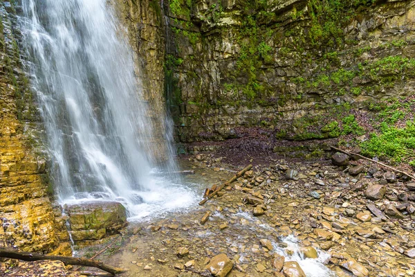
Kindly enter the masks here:
M 33 93 L 22 71 L 15 7 L 0 2 L 0 247 L 49 252 L 68 241 L 50 202 Z M 56 253 L 71 252 L 68 243 Z

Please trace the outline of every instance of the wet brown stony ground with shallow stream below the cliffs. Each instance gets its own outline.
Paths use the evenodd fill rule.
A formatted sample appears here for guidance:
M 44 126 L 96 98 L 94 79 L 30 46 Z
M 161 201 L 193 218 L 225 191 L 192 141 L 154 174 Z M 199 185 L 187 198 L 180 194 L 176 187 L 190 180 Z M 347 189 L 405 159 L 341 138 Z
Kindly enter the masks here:
M 187 157 L 206 187 L 241 167 Z M 121 276 L 414 276 L 415 184 L 369 161 L 257 165 L 203 206 L 83 249 Z

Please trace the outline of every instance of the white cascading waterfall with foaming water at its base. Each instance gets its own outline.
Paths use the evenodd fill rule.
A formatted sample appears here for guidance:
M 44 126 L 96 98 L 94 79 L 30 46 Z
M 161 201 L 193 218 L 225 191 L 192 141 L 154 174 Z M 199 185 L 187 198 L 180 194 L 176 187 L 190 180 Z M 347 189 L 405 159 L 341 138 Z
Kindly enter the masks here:
M 149 107 L 107 0 L 22 0 L 24 46 L 62 203 L 109 199 L 145 217 L 192 204 L 154 177 Z

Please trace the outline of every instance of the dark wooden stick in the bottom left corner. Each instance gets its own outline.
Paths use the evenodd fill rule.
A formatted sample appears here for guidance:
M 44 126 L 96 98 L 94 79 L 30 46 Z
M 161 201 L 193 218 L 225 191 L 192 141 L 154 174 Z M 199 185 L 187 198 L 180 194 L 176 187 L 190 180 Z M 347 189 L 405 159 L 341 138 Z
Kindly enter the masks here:
M 28 262 L 34 260 L 60 260 L 61 262 L 64 262 L 65 265 L 83 265 L 85 267 L 97 267 L 113 275 L 127 271 L 126 269 L 120 269 L 118 267 L 111 267 L 110 265 L 105 265 L 103 262 L 99 260 L 64 256 L 46 256 L 38 253 L 17 251 L 15 249 L 6 249 L 3 247 L 0 247 L 0 257 L 17 260 L 26 260 Z

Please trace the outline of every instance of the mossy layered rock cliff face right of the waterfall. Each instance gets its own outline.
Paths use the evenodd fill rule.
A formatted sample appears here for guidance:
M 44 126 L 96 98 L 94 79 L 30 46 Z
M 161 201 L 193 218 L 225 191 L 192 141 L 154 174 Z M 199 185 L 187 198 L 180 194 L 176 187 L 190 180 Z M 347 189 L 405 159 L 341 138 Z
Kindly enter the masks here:
M 180 140 L 250 127 L 279 139 L 337 137 L 356 109 L 413 94 L 414 5 L 171 0 L 176 47 L 166 65 Z

